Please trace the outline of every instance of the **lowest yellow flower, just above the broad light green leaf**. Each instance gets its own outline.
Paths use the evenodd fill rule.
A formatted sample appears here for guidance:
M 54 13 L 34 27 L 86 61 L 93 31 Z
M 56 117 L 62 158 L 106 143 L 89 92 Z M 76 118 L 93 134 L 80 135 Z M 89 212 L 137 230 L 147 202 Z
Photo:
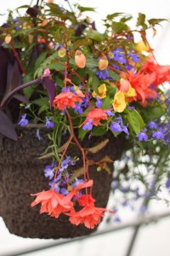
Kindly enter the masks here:
M 121 90 L 116 92 L 112 105 L 114 110 L 119 113 L 123 112 L 126 108 L 127 104 L 125 102 L 125 95 Z

